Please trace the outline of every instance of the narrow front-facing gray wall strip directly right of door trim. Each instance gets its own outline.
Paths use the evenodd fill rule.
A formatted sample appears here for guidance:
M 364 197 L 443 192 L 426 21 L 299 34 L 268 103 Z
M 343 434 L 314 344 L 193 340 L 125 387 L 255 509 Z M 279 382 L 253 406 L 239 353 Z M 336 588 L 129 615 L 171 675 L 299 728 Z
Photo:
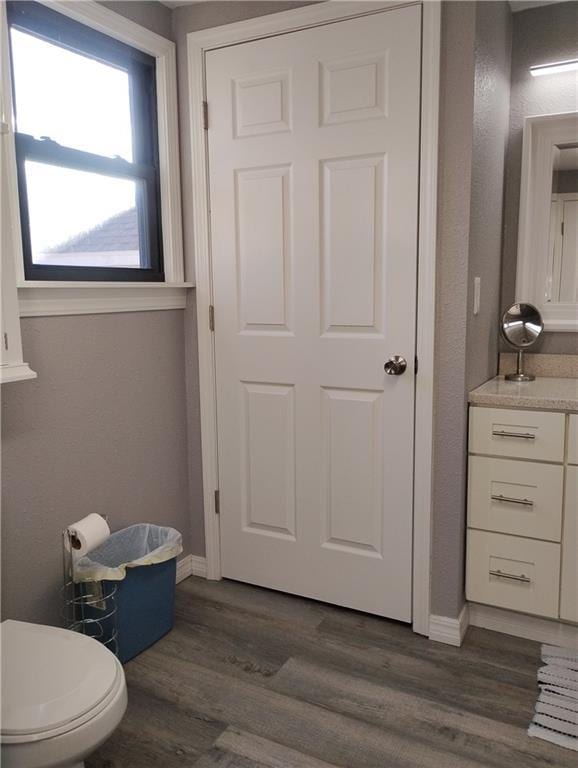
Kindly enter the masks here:
M 463 604 L 475 3 L 444 3 L 438 164 L 432 612 Z

